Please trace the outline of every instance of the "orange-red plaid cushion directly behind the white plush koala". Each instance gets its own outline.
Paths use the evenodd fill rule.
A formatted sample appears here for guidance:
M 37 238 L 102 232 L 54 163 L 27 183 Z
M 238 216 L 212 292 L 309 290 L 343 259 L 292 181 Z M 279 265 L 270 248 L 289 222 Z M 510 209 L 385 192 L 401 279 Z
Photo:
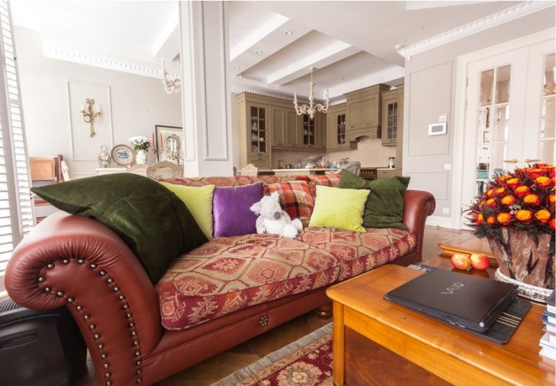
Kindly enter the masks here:
M 280 205 L 291 219 L 299 218 L 304 227 L 309 224 L 315 200 L 309 184 L 304 181 L 283 182 L 270 184 L 265 187 L 265 195 L 280 193 Z

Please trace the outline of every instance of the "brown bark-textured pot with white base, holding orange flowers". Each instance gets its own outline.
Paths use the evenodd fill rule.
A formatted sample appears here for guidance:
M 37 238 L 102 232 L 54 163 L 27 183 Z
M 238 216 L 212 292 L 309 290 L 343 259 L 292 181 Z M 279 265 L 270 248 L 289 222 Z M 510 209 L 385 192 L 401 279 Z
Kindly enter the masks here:
M 555 284 L 550 234 L 502 228 L 502 237 L 489 244 L 499 266 L 496 279 L 515 282 L 521 296 L 544 302 Z

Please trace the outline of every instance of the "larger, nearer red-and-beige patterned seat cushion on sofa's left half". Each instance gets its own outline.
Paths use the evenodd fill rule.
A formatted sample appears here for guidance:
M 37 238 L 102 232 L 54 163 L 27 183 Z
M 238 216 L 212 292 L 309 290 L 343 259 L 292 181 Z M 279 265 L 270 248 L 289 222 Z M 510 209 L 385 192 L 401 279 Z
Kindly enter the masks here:
M 174 260 L 156 284 L 162 325 L 181 330 L 332 284 L 338 259 L 275 234 L 215 238 Z

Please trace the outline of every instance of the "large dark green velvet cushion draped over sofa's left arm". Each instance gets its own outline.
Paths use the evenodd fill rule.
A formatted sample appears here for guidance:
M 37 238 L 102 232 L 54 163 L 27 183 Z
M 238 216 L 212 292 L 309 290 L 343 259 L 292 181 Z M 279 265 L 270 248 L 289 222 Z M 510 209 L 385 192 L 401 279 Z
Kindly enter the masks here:
M 208 241 L 174 193 L 133 173 L 74 179 L 31 191 L 58 209 L 110 227 L 133 250 L 153 283 L 174 258 Z

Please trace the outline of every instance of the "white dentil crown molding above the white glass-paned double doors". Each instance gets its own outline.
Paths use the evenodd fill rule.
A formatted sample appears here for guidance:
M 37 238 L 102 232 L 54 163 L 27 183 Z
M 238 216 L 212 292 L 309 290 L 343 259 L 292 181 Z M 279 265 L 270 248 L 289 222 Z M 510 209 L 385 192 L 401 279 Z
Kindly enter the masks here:
M 500 10 L 500 12 L 493 13 L 492 15 L 483 17 L 482 19 L 475 20 L 475 22 L 464 24 L 463 26 L 440 33 L 432 38 L 422 40 L 414 45 L 398 49 L 396 52 L 403 56 L 407 61 L 410 61 L 411 56 L 419 54 L 420 52 L 445 45 L 446 43 L 453 42 L 454 40 L 465 38 L 468 35 L 473 35 L 473 33 L 490 29 L 494 26 L 510 22 L 514 19 L 518 19 L 519 17 L 523 17 L 553 6 L 554 1 L 525 1 L 524 3 L 519 3 L 516 6 Z

